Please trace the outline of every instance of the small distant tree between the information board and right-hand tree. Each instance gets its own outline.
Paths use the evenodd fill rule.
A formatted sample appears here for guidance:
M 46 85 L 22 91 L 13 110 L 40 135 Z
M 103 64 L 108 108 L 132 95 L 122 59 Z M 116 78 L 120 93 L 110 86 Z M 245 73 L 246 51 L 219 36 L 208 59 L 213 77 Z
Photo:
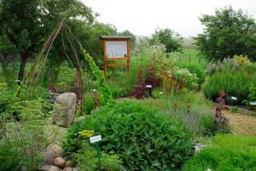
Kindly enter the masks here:
M 155 30 L 150 43 L 154 44 L 155 42 L 164 44 L 167 53 L 182 52 L 183 37 L 170 29 Z

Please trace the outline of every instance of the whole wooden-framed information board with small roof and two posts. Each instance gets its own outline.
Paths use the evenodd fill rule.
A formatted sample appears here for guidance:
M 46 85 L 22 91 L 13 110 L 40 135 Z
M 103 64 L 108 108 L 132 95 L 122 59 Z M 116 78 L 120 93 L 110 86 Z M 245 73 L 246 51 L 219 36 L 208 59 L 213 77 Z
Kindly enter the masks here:
M 101 36 L 103 43 L 104 76 L 108 80 L 108 67 L 131 66 L 131 37 L 130 36 Z M 126 60 L 126 63 L 110 63 L 111 61 Z

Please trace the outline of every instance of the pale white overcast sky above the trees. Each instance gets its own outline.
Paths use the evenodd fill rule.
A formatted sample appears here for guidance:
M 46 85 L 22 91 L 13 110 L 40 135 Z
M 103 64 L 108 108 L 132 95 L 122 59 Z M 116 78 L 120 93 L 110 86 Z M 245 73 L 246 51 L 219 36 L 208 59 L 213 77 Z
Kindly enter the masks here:
M 214 14 L 216 8 L 232 6 L 256 17 L 256 0 L 82 0 L 100 14 L 98 21 L 119 31 L 150 36 L 155 28 L 170 28 L 183 37 L 202 31 L 198 17 Z

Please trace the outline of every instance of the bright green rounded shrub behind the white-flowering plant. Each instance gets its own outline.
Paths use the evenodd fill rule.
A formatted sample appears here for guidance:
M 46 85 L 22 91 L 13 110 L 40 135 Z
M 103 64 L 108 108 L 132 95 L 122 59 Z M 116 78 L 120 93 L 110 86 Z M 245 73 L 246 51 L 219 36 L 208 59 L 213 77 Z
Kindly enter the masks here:
M 184 63 L 178 65 L 181 68 L 186 68 L 190 71 L 190 73 L 196 74 L 196 77 L 198 77 L 198 84 L 201 85 L 206 79 L 206 72 L 201 66 L 191 64 L 191 63 Z

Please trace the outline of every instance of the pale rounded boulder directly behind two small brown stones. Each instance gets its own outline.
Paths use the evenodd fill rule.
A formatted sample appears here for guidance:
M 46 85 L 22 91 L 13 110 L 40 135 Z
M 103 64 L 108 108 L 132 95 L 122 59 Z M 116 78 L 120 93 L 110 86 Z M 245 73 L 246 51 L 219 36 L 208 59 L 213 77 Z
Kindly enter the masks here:
M 44 162 L 46 164 L 53 164 L 55 157 L 62 157 L 63 150 L 60 145 L 51 144 L 44 150 Z

